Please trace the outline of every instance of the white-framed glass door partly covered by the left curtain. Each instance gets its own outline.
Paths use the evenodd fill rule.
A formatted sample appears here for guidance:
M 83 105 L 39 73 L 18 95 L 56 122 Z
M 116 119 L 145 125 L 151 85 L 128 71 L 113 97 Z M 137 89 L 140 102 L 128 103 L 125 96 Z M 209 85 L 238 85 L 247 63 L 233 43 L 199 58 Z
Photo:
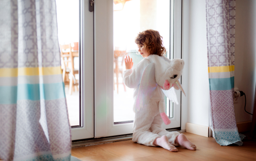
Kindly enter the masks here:
M 93 12 L 87 0 L 56 0 L 61 68 L 72 140 L 93 138 Z

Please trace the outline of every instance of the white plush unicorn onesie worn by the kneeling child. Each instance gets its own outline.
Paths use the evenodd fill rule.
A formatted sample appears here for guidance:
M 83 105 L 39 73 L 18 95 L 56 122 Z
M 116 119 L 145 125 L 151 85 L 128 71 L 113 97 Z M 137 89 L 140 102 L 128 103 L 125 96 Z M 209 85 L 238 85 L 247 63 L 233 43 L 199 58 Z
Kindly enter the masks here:
M 165 113 L 164 94 L 177 104 L 174 88 L 184 93 L 178 81 L 183 66 L 182 59 L 170 60 L 164 56 L 149 55 L 136 68 L 123 72 L 125 85 L 134 88 L 134 142 L 155 147 L 155 139 L 166 135 L 170 144 L 178 146 L 175 139 L 180 133 L 167 132 L 162 124 L 171 122 Z

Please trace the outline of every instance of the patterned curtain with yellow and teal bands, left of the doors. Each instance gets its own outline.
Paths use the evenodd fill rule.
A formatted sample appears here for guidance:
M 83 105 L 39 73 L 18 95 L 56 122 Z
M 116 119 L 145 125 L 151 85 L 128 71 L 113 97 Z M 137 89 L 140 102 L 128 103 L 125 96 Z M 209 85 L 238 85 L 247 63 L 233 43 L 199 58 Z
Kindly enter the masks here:
M 69 161 L 55 0 L 0 1 L 0 160 Z

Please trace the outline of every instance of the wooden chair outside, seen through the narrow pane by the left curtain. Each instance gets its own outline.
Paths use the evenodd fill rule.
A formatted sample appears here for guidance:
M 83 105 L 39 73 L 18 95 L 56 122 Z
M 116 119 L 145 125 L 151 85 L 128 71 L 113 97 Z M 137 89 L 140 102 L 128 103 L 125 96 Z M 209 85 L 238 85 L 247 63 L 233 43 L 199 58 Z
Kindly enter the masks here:
M 63 62 L 62 78 L 64 85 L 69 85 L 69 94 L 72 95 L 72 92 L 75 91 L 75 86 L 78 90 L 79 80 L 76 80 L 75 74 L 79 74 L 79 71 L 74 69 L 74 56 L 71 44 L 60 45 L 60 49 Z

